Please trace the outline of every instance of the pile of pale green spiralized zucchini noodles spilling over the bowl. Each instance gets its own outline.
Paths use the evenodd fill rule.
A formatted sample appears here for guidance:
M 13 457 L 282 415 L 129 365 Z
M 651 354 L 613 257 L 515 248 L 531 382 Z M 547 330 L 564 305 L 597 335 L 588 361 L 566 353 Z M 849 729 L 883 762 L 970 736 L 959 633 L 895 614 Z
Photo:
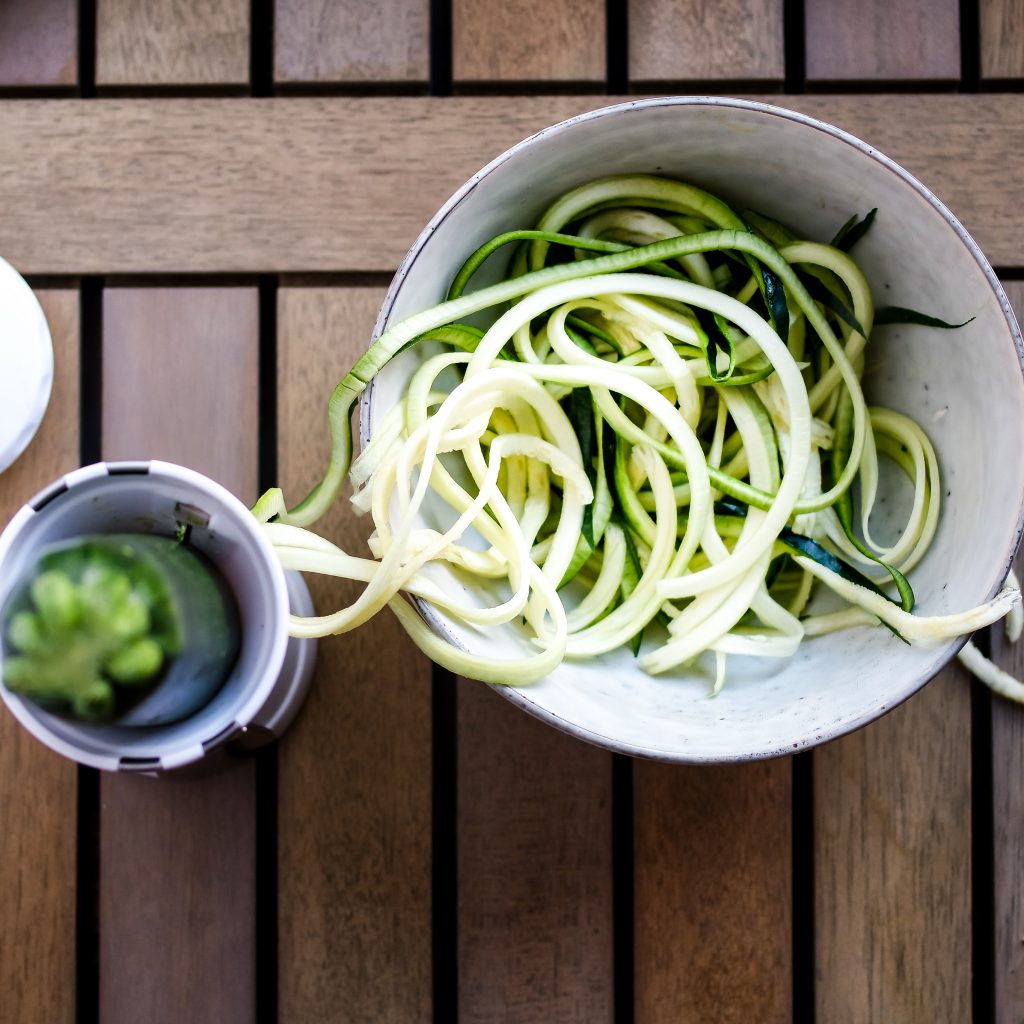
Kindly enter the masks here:
M 272 489 L 253 510 L 286 568 L 366 585 L 347 607 L 293 616 L 293 634 L 343 633 L 387 605 L 463 676 L 527 684 L 628 645 L 652 674 L 713 652 L 717 692 L 729 655 L 785 658 L 807 637 L 867 624 L 942 641 L 1010 613 L 1010 586 L 961 613 L 913 613 L 906 573 L 928 551 L 942 488 L 927 434 L 861 390 L 876 310 L 844 247 L 872 219 L 824 245 L 691 185 L 624 175 L 482 246 L 444 302 L 389 328 L 338 385 L 321 483 L 294 509 Z M 470 290 L 509 250 L 507 278 Z M 485 331 L 467 323 L 481 311 Z M 443 351 L 352 463 L 352 403 L 427 341 Z M 888 545 L 871 532 L 880 460 L 913 489 Z M 346 477 L 373 523 L 365 557 L 309 529 Z M 461 599 L 430 563 L 502 599 Z M 822 586 L 843 610 L 809 613 Z M 465 624 L 516 624 L 536 653 L 460 649 L 410 597 Z M 989 663 L 965 650 L 984 676 Z

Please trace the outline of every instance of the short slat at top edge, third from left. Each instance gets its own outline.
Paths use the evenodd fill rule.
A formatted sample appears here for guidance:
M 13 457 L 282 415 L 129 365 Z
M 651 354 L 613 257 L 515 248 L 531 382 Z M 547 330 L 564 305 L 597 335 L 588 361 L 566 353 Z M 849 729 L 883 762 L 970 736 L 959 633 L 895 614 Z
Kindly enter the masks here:
M 279 82 L 426 82 L 429 0 L 278 0 Z

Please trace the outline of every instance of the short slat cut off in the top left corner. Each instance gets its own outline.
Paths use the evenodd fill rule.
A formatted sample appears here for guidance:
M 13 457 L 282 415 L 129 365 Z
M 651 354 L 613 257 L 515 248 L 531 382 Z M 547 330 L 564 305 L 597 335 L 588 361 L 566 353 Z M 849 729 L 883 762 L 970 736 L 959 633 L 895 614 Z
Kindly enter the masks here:
M 75 85 L 75 0 L 0 3 L 0 85 Z

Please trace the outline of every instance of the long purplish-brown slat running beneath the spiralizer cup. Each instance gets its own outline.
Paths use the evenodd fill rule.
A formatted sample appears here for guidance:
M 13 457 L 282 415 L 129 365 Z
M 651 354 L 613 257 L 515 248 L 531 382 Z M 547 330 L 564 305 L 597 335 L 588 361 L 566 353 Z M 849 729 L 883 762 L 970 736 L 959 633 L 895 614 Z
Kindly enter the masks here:
M 162 458 L 256 493 L 255 289 L 103 294 L 104 459 Z M 255 771 L 104 775 L 100 1019 L 250 1022 Z

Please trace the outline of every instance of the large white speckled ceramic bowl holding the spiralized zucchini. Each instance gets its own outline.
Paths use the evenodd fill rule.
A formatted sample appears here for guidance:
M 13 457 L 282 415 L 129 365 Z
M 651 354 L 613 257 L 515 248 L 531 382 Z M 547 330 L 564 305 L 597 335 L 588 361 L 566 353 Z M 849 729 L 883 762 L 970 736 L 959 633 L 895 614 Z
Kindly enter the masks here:
M 869 401 L 925 427 L 949 493 L 932 549 L 912 572 L 919 610 L 940 614 L 990 598 L 1021 531 L 1020 333 L 990 266 L 942 203 L 871 146 L 813 118 L 686 97 L 637 100 L 548 128 L 488 164 L 430 221 L 388 292 L 377 333 L 440 301 L 461 262 L 492 236 L 532 226 L 560 193 L 624 172 L 701 185 L 737 209 L 822 241 L 851 214 L 878 207 L 855 253 L 878 304 L 955 322 L 974 317 L 953 332 L 877 329 L 866 391 Z M 364 439 L 419 357 L 407 353 L 374 382 L 361 411 Z M 507 657 L 524 650 L 512 626 L 481 632 L 421 610 L 471 651 Z M 809 639 L 788 662 L 731 657 L 715 698 L 708 695 L 710 665 L 649 677 L 629 651 L 565 663 L 529 687 L 497 689 L 555 727 L 614 751 L 738 761 L 792 753 L 870 722 L 923 686 L 958 646 L 908 647 L 881 628 Z

